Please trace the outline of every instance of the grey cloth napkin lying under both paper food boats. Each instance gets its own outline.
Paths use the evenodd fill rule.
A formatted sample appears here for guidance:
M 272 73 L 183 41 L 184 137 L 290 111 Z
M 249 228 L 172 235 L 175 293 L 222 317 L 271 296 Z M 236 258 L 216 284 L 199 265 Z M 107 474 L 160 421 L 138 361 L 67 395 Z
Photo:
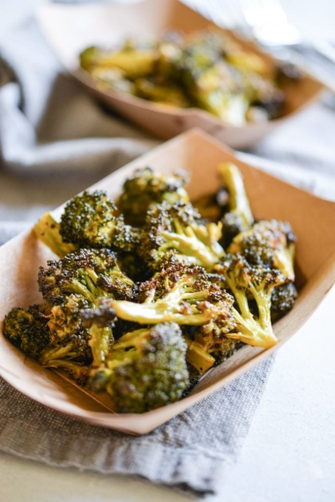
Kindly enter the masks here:
M 60 73 L 34 22 L 0 37 L 0 243 L 156 144 Z M 1 78 L 2 75 L 2 78 Z M 333 111 L 318 105 L 287 122 L 249 162 L 335 195 Z M 280 161 L 278 164 L 274 161 Z M 271 360 L 142 437 L 47 409 L 0 379 L 0 450 L 51 465 L 140 476 L 190 495 L 218 493 L 238 455 Z

